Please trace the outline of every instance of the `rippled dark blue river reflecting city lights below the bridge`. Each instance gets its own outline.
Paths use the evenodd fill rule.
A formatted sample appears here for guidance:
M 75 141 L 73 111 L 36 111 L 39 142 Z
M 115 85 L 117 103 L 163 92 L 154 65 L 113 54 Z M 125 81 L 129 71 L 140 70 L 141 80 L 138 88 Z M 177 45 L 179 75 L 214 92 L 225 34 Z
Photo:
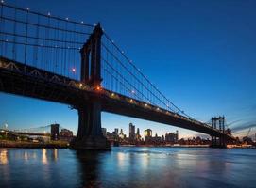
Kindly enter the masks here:
M 256 149 L 0 149 L 0 187 L 256 187 Z

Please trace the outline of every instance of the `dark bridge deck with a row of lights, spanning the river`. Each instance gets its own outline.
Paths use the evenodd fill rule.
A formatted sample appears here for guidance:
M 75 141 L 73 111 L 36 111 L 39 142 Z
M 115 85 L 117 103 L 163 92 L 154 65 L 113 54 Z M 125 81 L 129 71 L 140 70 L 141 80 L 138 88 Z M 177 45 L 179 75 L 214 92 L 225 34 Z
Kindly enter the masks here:
M 97 98 L 100 99 L 101 110 L 105 112 L 173 125 L 211 136 L 223 136 L 227 140 L 235 139 L 195 119 L 112 93 L 100 86 L 86 86 L 77 80 L 25 66 L 4 57 L 0 57 L 0 91 L 60 102 L 75 108 L 77 105 L 86 105 L 92 98 Z

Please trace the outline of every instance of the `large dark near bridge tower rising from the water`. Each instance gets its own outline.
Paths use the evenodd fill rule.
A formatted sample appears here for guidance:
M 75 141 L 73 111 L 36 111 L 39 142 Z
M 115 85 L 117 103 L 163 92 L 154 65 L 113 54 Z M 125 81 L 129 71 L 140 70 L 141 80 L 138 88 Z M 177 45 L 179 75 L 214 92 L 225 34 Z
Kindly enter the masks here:
M 80 50 L 81 78 L 80 81 L 92 89 L 101 89 L 101 36 L 100 24 Z M 98 93 L 100 94 L 100 93 Z M 111 149 L 111 144 L 101 131 L 101 102 L 97 94 L 89 96 L 86 103 L 77 103 L 74 107 L 78 111 L 77 137 L 71 143 L 72 149 Z

